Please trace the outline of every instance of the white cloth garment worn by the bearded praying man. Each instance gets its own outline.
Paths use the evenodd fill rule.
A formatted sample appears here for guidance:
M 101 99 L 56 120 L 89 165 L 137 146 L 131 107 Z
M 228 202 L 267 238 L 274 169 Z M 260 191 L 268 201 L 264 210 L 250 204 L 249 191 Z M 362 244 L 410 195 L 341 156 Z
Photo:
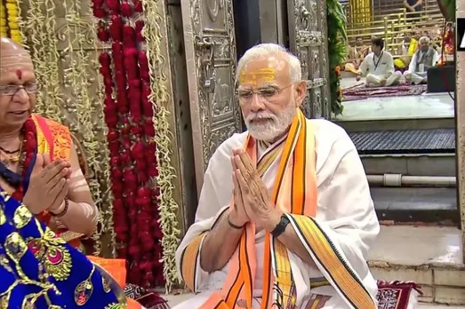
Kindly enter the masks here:
M 357 149 L 347 133 L 334 123 L 325 120 L 307 120 L 315 126 L 317 147 L 317 216 L 316 221 L 339 248 L 342 256 L 357 273 L 373 299 L 377 285 L 366 265 L 367 252 L 380 231 L 373 208 L 365 170 L 360 162 Z M 176 264 L 180 273 L 180 258 L 183 250 L 196 235 L 212 226 L 220 210 L 228 207 L 232 198 L 232 150 L 244 146 L 247 133 L 235 134 L 218 147 L 204 175 L 204 186 L 196 211 L 196 223 L 176 252 Z M 266 153 L 258 147 L 258 158 Z M 281 156 L 263 175 L 265 185 L 271 191 Z M 257 275 L 254 281 L 253 297 L 255 306 L 261 302 L 263 272 L 263 232 L 256 234 Z M 323 277 L 317 267 L 306 265 L 301 258 L 289 251 L 293 279 L 297 289 L 296 307 L 304 307 L 312 294 L 332 296 L 325 308 L 349 307 L 332 286 L 309 289 L 311 278 Z M 228 263 L 229 264 L 229 263 Z M 200 293 L 175 308 L 193 309 L 202 305 L 213 290 L 219 290 L 228 273 L 228 264 L 220 271 L 205 273 L 200 262 L 196 264 L 196 292 Z

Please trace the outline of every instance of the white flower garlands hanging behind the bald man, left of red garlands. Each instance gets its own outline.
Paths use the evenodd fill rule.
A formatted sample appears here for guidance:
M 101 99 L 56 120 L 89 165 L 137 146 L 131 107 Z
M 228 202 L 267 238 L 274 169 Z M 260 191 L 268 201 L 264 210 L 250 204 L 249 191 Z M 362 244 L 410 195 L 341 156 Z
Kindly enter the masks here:
M 68 0 L 69 1 L 69 0 Z M 86 161 L 92 170 L 92 177 L 87 181 L 92 196 L 100 210 L 100 230 L 92 235 L 96 255 L 101 254 L 101 239 L 110 235 L 107 255 L 115 256 L 113 211 L 111 209 L 111 194 L 109 193 L 108 149 L 106 145 L 105 125 L 103 125 L 103 107 L 100 99 L 92 99 L 89 89 L 93 78 L 88 74 L 95 70 L 95 59 L 91 59 L 84 47 L 86 36 L 83 29 L 91 29 L 91 45 L 96 46 L 94 27 L 86 23 L 79 15 L 81 0 L 64 0 L 66 25 L 63 40 L 67 40 L 65 57 L 69 57 L 68 66 L 64 68 L 64 88 L 71 92 L 71 99 L 63 99 L 64 89 L 60 86 L 60 53 L 56 34 L 55 5 L 53 0 L 29 0 L 28 12 L 24 22 L 29 50 L 35 67 L 36 79 L 40 95 L 37 96 L 36 113 L 52 118 L 59 123 L 67 123 L 70 130 L 82 138 Z M 88 10 L 92 15 L 92 8 Z M 45 12 L 45 14 L 44 14 Z M 20 23 L 22 25 L 22 23 Z M 23 34 L 23 38 L 25 35 Z M 73 38 L 71 42 L 71 38 Z M 97 73 L 98 75 L 98 73 Z M 99 80 L 98 89 L 101 89 Z M 68 117 L 69 116 L 69 117 Z M 76 120 L 73 123 L 69 118 Z M 108 246 L 109 245 L 109 246 Z

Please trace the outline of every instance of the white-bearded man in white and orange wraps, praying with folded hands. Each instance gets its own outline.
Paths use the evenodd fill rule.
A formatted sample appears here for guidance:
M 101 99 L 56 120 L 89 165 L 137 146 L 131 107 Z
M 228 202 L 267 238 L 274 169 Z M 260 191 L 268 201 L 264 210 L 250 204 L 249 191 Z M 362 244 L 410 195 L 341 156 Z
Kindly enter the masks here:
M 366 253 L 379 233 L 344 130 L 309 120 L 301 62 L 277 44 L 237 67 L 248 131 L 218 147 L 178 272 L 197 295 L 175 308 L 376 308 Z

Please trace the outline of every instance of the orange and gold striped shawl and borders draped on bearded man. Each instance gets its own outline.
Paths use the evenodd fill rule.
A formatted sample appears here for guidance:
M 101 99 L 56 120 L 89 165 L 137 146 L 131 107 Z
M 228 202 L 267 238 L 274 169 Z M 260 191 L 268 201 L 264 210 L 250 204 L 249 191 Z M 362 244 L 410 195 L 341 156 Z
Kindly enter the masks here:
M 247 154 L 257 162 L 256 142 L 248 137 Z M 316 261 L 327 281 L 352 308 L 374 309 L 373 298 L 357 274 L 341 256 L 334 243 L 314 219 L 317 212 L 315 132 L 299 110 L 293 120 L 279 162 L 272 202 L 283 210 L 302 245 Z M 229 207 L 234 207 L 234 201 Z M 213 225 L 214 226 L 214 225 Z M 200 244 L 209 231 L 194 238 L 184 250 L 181 273 L 188 287 L 196 291 L 196 263 Z M 294 308 L 295 282 L 288 251 L 282 242 L 265 234 L 263 257 L 263 293 L 261 309 Z M 239 246 L 230 259 L 228 277 L 202 308 L 252 308 L 256 274 L 255 225 L 248 223 Z

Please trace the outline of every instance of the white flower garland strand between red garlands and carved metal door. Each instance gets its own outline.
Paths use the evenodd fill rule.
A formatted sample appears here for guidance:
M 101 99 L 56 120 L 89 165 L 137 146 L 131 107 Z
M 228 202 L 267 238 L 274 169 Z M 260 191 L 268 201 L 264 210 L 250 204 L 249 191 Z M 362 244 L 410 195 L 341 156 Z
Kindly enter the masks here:
M 166 91 L 167 78 L 161 67 L 167 67 L 161 52 L 162 12 L 158 0 L 142 0 L 145 14 L 145 27 L 143 34 L 146 38 L 147 57 L 150 71 L 151 94 L 149 100 L 154 108 L 153 123 L 156 131 L 156 159 L 159 174 L 156 178 L 156 186 L 160 188 L 158 195 L 158 211 L 160 214 L 160 227 L 163 231 L 163 263 L 164 278 L 166 281 L 166 293 L 173 286 L 180 284 L 176 272 L 174 255 L 180 240 L 180 229 L 178 228 L 177 213 L 179 205 L 174 201 L 172 192 L 172 179 L 176 177 L 176 170 L 171 162 L 172 132 L 170 131 L 170 113 L 165 105 L 170 100 L 170 94 Z

